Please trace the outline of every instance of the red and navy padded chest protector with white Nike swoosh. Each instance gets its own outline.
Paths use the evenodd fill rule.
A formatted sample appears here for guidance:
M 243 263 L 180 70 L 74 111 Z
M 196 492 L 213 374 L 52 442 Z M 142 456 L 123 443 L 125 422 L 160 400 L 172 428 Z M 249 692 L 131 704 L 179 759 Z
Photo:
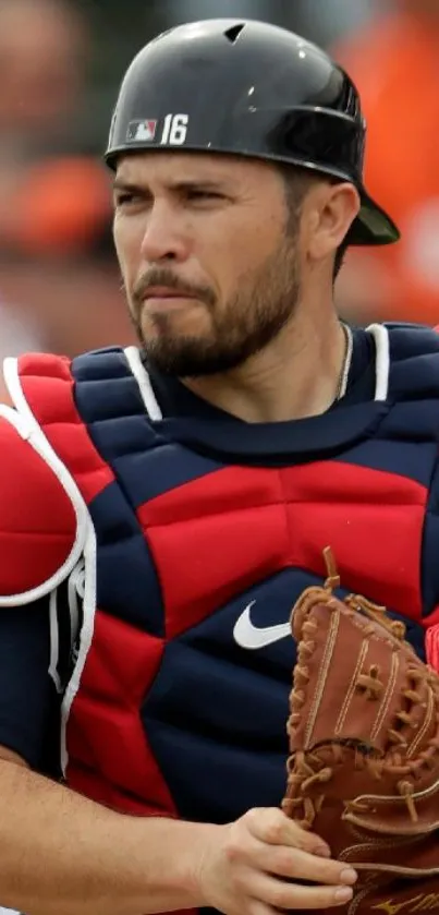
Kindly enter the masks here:
M 420 653 L 427 630 L 434 655 L 439 337 L 370 333 L 375 399 L 269 434 L 163 418 L 134 348 L 7 361 L 29 444 L 77 517 L 81 559 L 64 577 L 83 623 L 62 706 L 73 788 L 131 814 L 214 822 L 278 805 L 290 611 L 322 582 L 327 545 L 341 594 L 402 615 Z

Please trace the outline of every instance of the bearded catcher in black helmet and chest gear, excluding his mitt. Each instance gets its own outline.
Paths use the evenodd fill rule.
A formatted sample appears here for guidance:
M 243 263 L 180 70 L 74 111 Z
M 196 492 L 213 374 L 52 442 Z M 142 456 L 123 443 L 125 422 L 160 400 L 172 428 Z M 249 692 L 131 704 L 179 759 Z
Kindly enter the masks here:
M 352 898 L 279 809 L 290 610 L 328 544 L 422 657 L 439 595 L 439 337 L 332 302 L 346 244 L 398 239 L 363 143 L 344 73 L 266 24 L 178 27 L 125 76 L 107 161 L 141 349 L 4 368 L 4 905 Z

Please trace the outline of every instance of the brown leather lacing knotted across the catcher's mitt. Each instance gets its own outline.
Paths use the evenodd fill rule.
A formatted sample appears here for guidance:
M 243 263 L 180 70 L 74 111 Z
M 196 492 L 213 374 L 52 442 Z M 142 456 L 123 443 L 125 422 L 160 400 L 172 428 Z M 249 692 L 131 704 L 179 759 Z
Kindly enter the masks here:
M 333 588 L 338 587 L 340 583 L 332 553 L 329 549 L 326 551 L 325 558 L 327 563 L 328 578 L 325 581 L 324 588 L 307 589 L 308 597 L 312 597 L 313 604 L 316 600 L 317 590 L 319 591 L 319 603 L 329 602 L 332 598 Z M 310 594 L 310 592 L 313 592 L 313 594 Z M 302 600 L 305 595 L 306 592 L 303 594 Z M 399 640 L 404 639 L 404 624 L 386 617 L 385 607 L 373 604 L 366 598 L 358 594 L 349 595 L 345 599 L 345 603 L 353 610 L 363 612 L 368 616 L 373 616 L 374 618 L 378 616 L 379 623 L 383 625 L 394 638 Z M 302 707 L 306 700 L 304 687 L 306 687 L 309 681 L 307 661 L 315 649 L 315 635 L 317 633 L 317 624 L 313 619 L 307 619 L 302 628 L 303 639 L 298 647 L 297 663 L 294 670 L 294 688 L 291 694 L 291 714 L 288 722 L 289 734 L 293 734 L 295 727 L 302 721 Z M 370 626 L 370 633 L 373 631 L 374 627 Z M 367 634 L 367 629 L 365 630 L 365 634 Z M 426 679 L 426 674 L 418 667 L 413 666 L 408 667 L 407 676 L 411 683 L 408 688 L 404 690 L 403 696 L 406 699 L 407 709 L 410 709 L 411 706 L 419 706 L 423 702 L 423 697 L 417 691 L 417 687 L 419 683 Z M 385 684 L 380 679 L 380 671 L 377 664 L 370 665 L 367 673 L 363 672 L 358 674 L 356 689 L 362 690 L 366 699 L 371 701 L 380 699 L 385 689 Z M 414 725 L 413 715 L 410 710 L 402 710 L 398 712 L 397 719 L 401 722 L 401 724 Z M 415 785 L 412 781 L 408 781 L 408 778 L 411 776 L 412 779 L 416 779 L 419 776 L 422 769 L 425 770 L 426 767 L 430 768 L 436 764 L 431 759 L 429 749 L 439 749 L 439 738 L 431 738 L 428 743 L 428 747 L 423 753 L 419 753 L 416 760 L 403 758 L 401 751 L 407 748 L 407 742 L 400 731 L 397 729 L 390 729 L 388 732 L 388 739 L 391 745 L 391 749 L 394 749 L 391 759 L 388 760 L 378 758 L 374 755 L 375 750 L 371 746 L 364 744 L 359 745 L 357 741 L 343 739 L 340 741 L 339 744 L 329 744 L 328 742 L 325 749 L 326 751 L 328 751 L 328 749 L 331 750 L 333 762 L 337 764 L 342 761 L 345 748 L 351 747 L 354 749 L 354 769 L 362 770 L 367 768 L 369 774 L 377 780 L 381 779 L 386 772 L 393 773 L 394 775 L 401 774 L 402 778 L 397 783 L 395 787 L 401 797 L 405 800 L 412 821 L 416 822 L 418 816 L 415 798 L 413 797 Z M 400 750 L 400 753 L 398 753 L 398 750 Z M 303 819 L 300 820 L 300 824 L 305 829 L 309 829 L 325 802 L 325 791 L 316 793 L 316 786 L 319 784 L 324 785 L 331 780 L 333 775 L 333 768 L 331 766 L 324 764 L 316 751 L 296 750 L 288 760 L 288 796 L 284 798 L 282 807 L 285 809 L 286 814 L 294 819 L 296 819 L 296 811 L 302 808 Z M 308 794 L 309 791 L 313 792 L 312 797 Z M 355 805 L 358 810 L 361 806 L 359 802 Z M 365 809 L 368 810 L 368 807 L 366 806 Z

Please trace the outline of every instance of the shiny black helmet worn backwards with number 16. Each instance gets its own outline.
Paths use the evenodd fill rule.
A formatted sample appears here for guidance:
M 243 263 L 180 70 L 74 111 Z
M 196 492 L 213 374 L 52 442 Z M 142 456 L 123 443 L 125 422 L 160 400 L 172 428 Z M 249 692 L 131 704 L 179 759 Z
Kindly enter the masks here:
M 244 20 L 180 25 L 149 41 L 121 85 L 106 160 L 143 149 L 233 154 L 350 181 L 362 207 L 346 241 L 399 239 L 363 184 L 365 121 L 346 73 L 284 28 Z

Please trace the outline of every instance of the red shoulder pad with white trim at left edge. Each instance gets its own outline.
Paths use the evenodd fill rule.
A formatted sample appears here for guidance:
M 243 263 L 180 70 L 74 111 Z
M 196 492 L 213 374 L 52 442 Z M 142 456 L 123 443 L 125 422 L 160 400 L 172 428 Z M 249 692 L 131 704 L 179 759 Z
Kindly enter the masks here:
M 74 506 L 56 473 L 0 410 L 0 606 L 29 603 L 69 574 L 77 552 Z M 64 571 L 65 570 L 65 571 Z

